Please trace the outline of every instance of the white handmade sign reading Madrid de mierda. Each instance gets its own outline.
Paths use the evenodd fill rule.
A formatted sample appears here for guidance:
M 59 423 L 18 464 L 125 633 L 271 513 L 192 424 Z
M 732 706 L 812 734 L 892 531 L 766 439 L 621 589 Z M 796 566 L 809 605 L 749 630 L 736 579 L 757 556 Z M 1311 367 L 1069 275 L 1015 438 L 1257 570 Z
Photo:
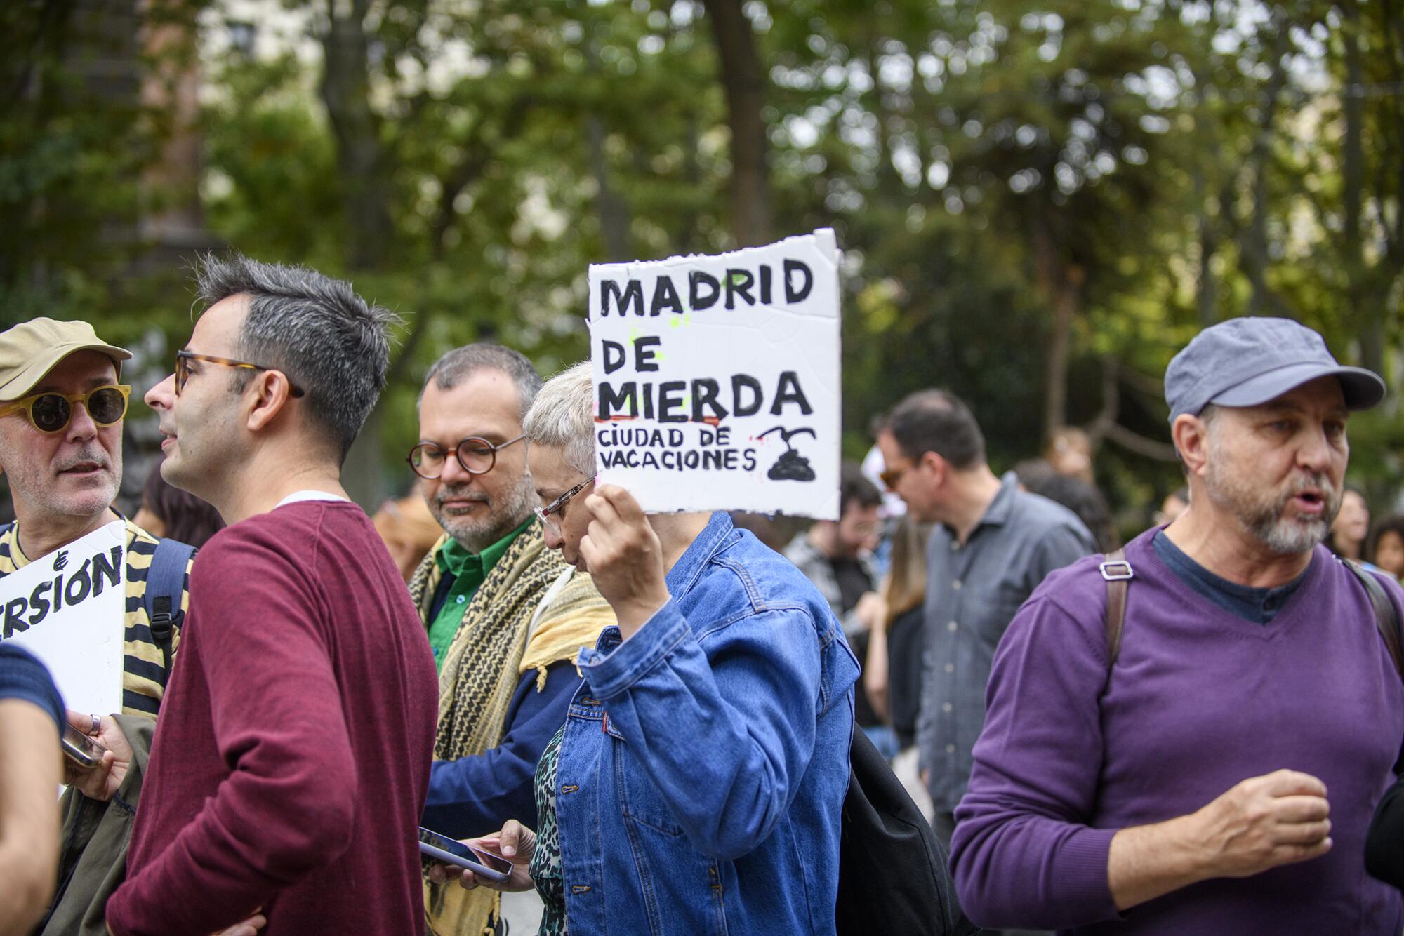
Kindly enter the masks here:
M 591 264 L 595 466 L 644 511 L 838 519 L 838 250 Z

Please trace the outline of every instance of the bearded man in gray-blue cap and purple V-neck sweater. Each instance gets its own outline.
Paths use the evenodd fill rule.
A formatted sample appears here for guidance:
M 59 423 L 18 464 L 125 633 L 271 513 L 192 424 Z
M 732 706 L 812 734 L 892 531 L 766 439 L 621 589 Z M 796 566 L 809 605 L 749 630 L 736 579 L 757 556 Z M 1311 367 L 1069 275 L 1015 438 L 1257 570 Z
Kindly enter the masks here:
M 1404 592 L 1321 546 L 1349 413 L 1383 396 L 1283 319 L 1171 361 L 1189 511 L 1049 575 L 995 654 L 951 856 L 974 922 L 1398 936 L 1362 850 L 1404 737 L 1372 598 Z

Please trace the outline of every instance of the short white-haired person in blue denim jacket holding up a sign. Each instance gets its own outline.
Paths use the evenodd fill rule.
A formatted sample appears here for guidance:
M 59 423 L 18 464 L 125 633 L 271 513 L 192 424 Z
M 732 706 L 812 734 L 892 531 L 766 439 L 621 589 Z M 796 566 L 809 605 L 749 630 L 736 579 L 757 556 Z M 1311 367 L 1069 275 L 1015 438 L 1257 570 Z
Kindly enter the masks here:
M 588 363 L 524 429 L 546 544 L 619 626 L 581 648 L 539 832 L 480 839 L 518 864 L 505 887 L 542 891 L 543 933 L 833 933 L 858 662 L 828 602 L 726 514 L 595 486 Z

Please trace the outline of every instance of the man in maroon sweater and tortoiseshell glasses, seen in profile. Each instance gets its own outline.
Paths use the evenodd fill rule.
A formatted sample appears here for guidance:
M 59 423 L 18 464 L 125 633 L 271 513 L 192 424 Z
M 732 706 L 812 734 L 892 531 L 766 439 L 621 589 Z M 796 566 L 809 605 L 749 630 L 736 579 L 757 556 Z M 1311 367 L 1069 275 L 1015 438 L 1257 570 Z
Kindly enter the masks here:
M 393 316 L 320 274 L 206 258 L 211 303 L 160 413 L 161 473 L 229 523 L 201 550 L 117 936 L 421 933 L 416 828 L 438 685 L 424 629 L 340 484 Z M 336 867 L 329 884 L 319 871 Z

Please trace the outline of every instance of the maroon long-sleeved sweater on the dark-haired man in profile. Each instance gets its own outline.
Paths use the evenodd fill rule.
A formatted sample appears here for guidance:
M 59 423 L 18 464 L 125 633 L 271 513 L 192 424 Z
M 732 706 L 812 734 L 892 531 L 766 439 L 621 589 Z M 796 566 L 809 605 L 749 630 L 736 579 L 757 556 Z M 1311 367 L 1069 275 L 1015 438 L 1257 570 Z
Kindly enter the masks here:
M 310 501 L 215 535 L 152 744 L 118 936 L 423 933 L 416 828 L 438 679 L 361 508 Z

